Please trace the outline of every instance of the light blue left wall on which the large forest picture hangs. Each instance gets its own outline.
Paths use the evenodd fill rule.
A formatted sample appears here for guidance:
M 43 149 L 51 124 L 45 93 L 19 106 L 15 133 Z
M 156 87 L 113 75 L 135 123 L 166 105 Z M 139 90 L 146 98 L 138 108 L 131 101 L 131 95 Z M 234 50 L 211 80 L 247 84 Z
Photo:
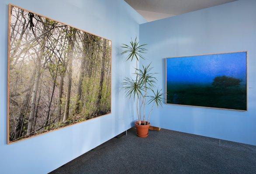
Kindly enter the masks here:
M 35 11 L 112 40 L 112 114 L 7 145 L 8 3 Z M 121 43 L 139 35 L 145 20 L 122 0 L 0 1 L 0 173 L 45 174 L 102 144 L 133 125 L 131 102 L 120 88 L 135 62 L 119 56 Z

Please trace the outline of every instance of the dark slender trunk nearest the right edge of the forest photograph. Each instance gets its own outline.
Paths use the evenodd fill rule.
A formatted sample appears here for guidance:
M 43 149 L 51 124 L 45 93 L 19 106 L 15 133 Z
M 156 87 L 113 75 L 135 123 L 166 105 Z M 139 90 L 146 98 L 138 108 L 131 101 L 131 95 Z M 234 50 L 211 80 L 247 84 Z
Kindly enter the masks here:
M 97 97 L 97 102 L 96 102 L 97 107 L 100 107 L 100 100 L 101 100 L 101 97 L 102 97 L 102 87 L 103 87 L 104 72 L 105 72 L 105 60 L 106 60 L 106 44 L 107 44 L 107 40 L 104 39 L 103 55 L 102 55 L 101 69 L 100 69 L 101 70 L 100 85 L 99 85 L 99 92 L 98 92 L 98 97 Z

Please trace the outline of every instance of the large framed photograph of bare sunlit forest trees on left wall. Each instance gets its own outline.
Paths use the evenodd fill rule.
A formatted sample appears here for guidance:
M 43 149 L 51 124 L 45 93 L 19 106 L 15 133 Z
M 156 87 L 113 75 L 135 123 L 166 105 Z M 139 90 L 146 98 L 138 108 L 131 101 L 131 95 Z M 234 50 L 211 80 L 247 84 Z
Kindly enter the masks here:
M 7 143 L 111 113 L 111 40 L 9 4 Z

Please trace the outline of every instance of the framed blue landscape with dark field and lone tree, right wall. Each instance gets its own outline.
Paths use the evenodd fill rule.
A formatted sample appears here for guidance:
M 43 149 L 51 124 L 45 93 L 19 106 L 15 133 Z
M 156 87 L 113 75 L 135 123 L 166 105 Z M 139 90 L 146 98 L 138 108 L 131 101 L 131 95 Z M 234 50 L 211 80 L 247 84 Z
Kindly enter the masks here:
M 247 110 L 247 52 L 166 58 L 166 104 Z

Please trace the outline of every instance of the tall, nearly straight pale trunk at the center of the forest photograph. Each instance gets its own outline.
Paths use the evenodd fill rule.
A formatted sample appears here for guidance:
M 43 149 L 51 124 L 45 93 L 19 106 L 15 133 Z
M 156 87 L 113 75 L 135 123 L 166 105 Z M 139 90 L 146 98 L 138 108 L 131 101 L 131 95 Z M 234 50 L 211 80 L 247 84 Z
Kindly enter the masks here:
M 74 40 L 75 40 L 76 30 L 73 29 L 72 36 L 69 37 L 69 80 L 68 80 L 68 89 L 66 94 L 66 104 L 64 110 L 63 121 L 66 121 L 69 118 L 69 103 L 70 103 L 70 93 L 71 93 L 71 85 L 72 85 L 72 69 L 73 69 L 73 50 L 74 50 Z

